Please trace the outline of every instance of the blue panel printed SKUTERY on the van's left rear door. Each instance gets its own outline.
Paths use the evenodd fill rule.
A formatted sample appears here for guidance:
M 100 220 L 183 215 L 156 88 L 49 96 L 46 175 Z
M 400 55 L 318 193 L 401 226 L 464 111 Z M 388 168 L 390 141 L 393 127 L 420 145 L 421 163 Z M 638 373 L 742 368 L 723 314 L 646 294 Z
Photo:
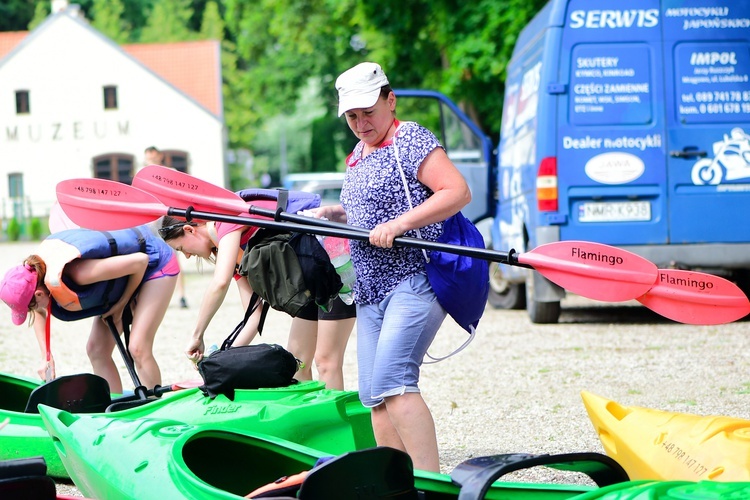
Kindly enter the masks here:
M 642 43 L 577 45 L 570 68 L 570 123 L 650 123 L 651 60 L 650 48 Z

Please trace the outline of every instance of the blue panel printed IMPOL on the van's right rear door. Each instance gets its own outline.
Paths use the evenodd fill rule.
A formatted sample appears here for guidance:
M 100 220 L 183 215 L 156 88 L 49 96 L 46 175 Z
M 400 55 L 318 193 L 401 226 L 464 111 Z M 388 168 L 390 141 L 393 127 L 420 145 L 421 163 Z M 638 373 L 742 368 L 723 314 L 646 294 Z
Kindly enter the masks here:
M 740 123 L 750 120 L 750 47 L 747 43 L 680 43 L 675 47 L 677 120 Z

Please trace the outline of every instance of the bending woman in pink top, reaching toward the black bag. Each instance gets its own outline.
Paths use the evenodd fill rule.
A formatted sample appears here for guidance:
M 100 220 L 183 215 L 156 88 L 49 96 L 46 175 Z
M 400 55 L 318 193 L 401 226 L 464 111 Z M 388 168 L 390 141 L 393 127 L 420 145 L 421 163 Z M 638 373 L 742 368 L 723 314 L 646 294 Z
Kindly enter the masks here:
M 234 279 L 245 308 L 253 295 L 252 287 L 246 279 L 236 273 L 243 250 L 257 228 L 241 224 L 222 222 L 196 223 L 184 219 L 164 217 L 159 234 L 174 250 L 182 252 L 186 258 L 195 255 L 215 264 L 211 283 L 203 294 L 198 321 L 185 354 L 194 363 L 203 358 L 206 329 L 221 307 L 229 285 Z M 292 320 L 289 332 L 288 349 L 304 363 L 297 372 L 298 380 L 312 379 L 312 361 L 318 369 L 319 379 L 329 389 L 344 388 L 344 351 L 355 322 L 355 308 L 345 305 L 336 298 L 329 312 L 321 311 L 314 302 L 305 307 Z M 233 345 L 247 345 L 258 331 L 261 310 L 258 308 L 249 318 Z

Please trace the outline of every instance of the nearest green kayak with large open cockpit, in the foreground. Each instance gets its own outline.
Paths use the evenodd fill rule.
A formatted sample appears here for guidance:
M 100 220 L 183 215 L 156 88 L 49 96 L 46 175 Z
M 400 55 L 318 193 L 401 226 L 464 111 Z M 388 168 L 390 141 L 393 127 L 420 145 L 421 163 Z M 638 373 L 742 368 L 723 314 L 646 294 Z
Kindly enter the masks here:
M 108 419 L 41 407 L 45 425 L 76 486 L 107 499 L 237 499 L 282 476 L 310 470 L 331 454 L 276 436 L 174 420 Z M 123 452 L 127 450 L 127 452 Z M 112 457 L 117 454 L 117 460 Z M 414 471 L 425 499 L 457 498 L 445 474 Z M 488 499 L 566 499 L 586 485 L 495 483 Z

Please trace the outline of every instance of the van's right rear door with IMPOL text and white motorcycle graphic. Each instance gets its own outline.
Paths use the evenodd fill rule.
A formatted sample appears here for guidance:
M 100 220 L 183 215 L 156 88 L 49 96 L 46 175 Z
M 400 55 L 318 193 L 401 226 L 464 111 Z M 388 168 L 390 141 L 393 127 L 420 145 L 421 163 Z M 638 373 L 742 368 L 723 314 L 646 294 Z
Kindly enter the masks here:
M 670 241 L 750 241 L 750 2 L 663 0 Z

